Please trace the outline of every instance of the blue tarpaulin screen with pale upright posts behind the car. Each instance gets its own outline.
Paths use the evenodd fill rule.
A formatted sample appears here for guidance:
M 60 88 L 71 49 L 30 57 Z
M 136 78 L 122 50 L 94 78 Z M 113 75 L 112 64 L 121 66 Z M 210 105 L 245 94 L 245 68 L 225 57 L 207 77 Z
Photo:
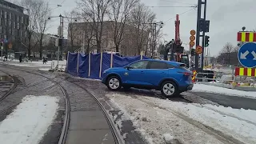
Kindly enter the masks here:
M 135 62 L 141 59 L 141 56 L 134 57 L 120 57 L 118 55 L 113 54 L 113 67 L 122 67 L 126 66 L 131 62 Z M 143 59 L 148 59 L 143 56 Z M 90 69 L 89 69 L 90 62 Z M 111 62 L 111 54 L 103 53 L 102 54 L 102 70 L 101 75 L 104 70 L 110 68 Z M 101 54 L 78 54 L 78 53 L 69 53 L 68 55 L 68 63 L 67 63 L 67 73 L 79 76 L 82 78 L 93 78 L 100 79 L 100 65 L 101 65 Z M 78 68 L 78 73 L 77 73 Z M 89 76 L 90 70 L 90 76 Z

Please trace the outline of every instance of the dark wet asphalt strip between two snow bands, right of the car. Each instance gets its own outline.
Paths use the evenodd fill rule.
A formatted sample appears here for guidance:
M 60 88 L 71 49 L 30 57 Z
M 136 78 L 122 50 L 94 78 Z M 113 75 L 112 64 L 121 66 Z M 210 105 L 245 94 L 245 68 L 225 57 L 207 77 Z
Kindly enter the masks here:
M 241 98 L 225 94 L 214 94 L 206 92 L 191 92 L 202 98 L 206 98 L 212 102 L 216 102 L 222 106 L 230 106 L 234 109 L 250 109 L 256 110 L 256 99 L 254 98 Z

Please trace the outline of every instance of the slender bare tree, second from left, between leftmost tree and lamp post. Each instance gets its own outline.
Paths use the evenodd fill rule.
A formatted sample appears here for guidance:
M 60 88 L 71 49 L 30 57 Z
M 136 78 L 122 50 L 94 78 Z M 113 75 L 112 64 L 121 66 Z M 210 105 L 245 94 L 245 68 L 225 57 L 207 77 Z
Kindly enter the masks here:
M 37 20 L 37 25 L 38 25 L 38 42 L 39 42 L 39 53 L 40 53 L 40 58 L 42 59 L 42 48 L 43 48 L 43 38 L 44 34 L 46 32 L 47 28 L 47 23 L 48 23 L 48 18 L 50 16 L 50 7 L 49 3 L 45 2 L 44 0 L 36 0 L 38 2 L 39 10 L 38 10 L 38 17 L 36 18 Z

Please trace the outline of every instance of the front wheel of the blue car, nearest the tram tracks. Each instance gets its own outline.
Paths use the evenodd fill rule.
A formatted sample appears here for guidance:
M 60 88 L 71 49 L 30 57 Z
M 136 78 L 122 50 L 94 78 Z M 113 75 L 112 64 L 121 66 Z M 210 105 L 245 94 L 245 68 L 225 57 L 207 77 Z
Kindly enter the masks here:
M 109 90 L 118 91 L 121 89 L 122 83 L 117 76 L 111 76 L 110 78 L 107 78 L 106 86 Z

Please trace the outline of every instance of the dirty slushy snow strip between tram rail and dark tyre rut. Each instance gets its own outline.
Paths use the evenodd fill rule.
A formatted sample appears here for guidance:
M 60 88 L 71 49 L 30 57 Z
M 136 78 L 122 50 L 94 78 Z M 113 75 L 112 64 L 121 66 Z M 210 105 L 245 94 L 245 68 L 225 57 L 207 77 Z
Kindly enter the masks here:
M 136 131 L 141 132 L 149 143 L 166 143 L 166 140 L 172 139 L 184 144 L 222 143 L 214 136 L 178 118 L 170 110 L 154 106 L 154 102 L 148 104 L 124 94 L 107 94 L 107 97 L 130 117 Z M 146 97 L 140 95 L 138 98 Z

